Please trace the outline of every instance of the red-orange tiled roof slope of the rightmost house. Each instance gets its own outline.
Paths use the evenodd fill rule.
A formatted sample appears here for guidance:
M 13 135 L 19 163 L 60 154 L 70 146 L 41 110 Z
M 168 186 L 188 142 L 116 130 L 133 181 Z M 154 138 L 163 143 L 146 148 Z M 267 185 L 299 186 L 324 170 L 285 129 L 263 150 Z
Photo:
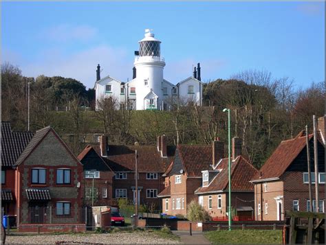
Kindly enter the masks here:
M 313 135 L 309 135 L 311 140 Z M 270 178 L 279 178 L 287 167 L 296 159 L 296 156 L 305 148 L 305 135 L 301 131 L 294 139 L 282 141 L 274 150 L 270 158 L 261 167 L 260 171 L 252 178 L 253 182 L 259 182 Z

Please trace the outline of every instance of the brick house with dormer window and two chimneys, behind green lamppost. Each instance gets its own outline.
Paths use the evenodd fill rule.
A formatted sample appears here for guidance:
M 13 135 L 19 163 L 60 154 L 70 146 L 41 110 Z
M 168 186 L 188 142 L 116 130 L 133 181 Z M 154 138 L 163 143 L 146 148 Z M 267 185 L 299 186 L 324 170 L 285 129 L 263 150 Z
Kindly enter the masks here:
M 254 185 L 249 181 L 257 173 L 248 157 L 241 154 L 241 139 L 232 139 L 231 207 L 241 220 L 254 219 Z M 225 220 L 228 216 L 228 158 L 224 143 L 213 142 L 213 165 L 202 171 L 202 186 L 195 194 L 210 217 Z

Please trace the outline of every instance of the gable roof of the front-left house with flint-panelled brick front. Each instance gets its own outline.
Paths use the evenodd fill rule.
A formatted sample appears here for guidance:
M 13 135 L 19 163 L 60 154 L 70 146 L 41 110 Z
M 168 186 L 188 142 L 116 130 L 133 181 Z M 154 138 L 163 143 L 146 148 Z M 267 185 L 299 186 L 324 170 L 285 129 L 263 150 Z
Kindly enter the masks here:
M 67 152 L 69 152 L 69 154 L 71 154 L 72 157 L 74 159 L 76 159 L 76 161 L 78 163 L 80 163 L 80 161 L 78 161 L 78 159 L 76 158 L 76 156 L 68 148 L 68 146 L 66 145 L 66 143 L 61 139 L 61 137 L 58 136 L 58 134 L 56 133 L 56 131 L 53 128 L 51 128 L 50 126 L 47 126 L 45 128 L 41 128 L 40 130 L 37 130 L 35 132 L 34 136 L 30 140 L 30 142 L 28 143 L 28 145 L 26 146 L 26 148 L 23 150 L 23 152 L 21 153 L 21 155 L 17 159 L 17 161 L 14 164 L 14 166 L 18 166 L 19 164 L 23 163 L 23 161 L 25 161 L 25 159 L 32 153 L 32 151 L 37 147 L 37 145 L 39 145 L 39 143 L 41 143 L 41 141 L 43 141 L 43 139 L 45 138 L 45 136 L 49 132 L 52 132 L 58 138 L 58 141 L 60 141 L 60 143 L 63 144 L 63 146 L 65 147 L 65 149 L 67 150 Z

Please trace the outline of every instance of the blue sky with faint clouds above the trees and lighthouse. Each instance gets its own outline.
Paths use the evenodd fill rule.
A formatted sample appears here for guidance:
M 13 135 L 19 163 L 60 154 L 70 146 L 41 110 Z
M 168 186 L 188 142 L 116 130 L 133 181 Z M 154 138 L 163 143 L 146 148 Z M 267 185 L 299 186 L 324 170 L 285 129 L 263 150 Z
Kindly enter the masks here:
M 1 62 L 23 75 L 61 75 L 93 88 L 132 78 L 146 28 L 162 41 L 164 78 L 177 84 L 200 62 L 202 81 L 250 69 L 325 81 L 324 2 L 1 2 Z

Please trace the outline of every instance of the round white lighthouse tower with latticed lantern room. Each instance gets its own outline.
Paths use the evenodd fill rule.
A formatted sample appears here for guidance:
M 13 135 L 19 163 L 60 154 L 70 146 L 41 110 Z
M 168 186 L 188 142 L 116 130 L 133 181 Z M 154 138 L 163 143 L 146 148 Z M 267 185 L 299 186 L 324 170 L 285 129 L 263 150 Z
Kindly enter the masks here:
M 160 40 L 154 37 L 152 30 L 145 30 L 140 40 L 138 56 L 135 56 L 136 110 L 160 109 L 163 102 L 164 58 L 160 56 Z

